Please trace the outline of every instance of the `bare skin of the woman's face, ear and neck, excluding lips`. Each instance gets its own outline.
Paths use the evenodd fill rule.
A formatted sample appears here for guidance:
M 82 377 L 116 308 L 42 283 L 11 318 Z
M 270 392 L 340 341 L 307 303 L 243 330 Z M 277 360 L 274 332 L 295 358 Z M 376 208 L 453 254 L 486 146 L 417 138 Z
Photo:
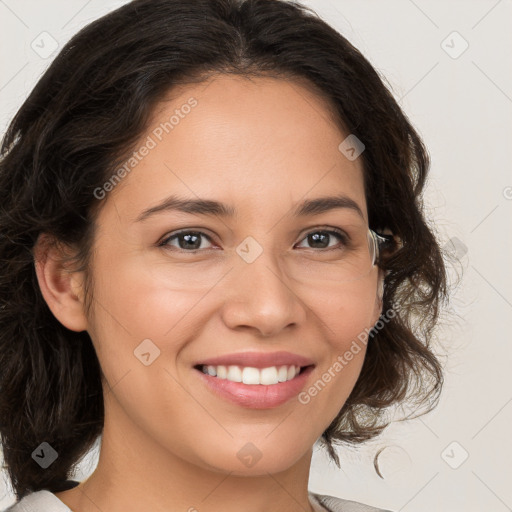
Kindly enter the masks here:
M 197 106 L 161 141 L 153 136 L 156 147 L 102 200 L 89 318 L 83 275 L 37 246 L 45 300 L 63 325 L 88 331 L 105 377 L 98 466 L 56 493 L 75 512 L 313 510 L 312 447 L 353 389 L 365 351 L 309 403 L 295 397 L 267 409 L 216 396 L 194 365 L 288 351 L 314 361 L 311 386 L 381 313 L 377 267 L 344 286 L 319 285 L 292 278 L 280 256 L 297 254 L 293 247 L 317 227 L 368 221 L 362 162 L 339 151 L 348 134 L 328 105 L 297 82 L 216 76 L 173 91 L 141 145 L 191 97 Z M 170 194 L 221 201 L 238 216 L 166 211 L 136 221 Z M 352 198 L 364 219 L 346 208 L 291 214 L 304 199 L 334 194 Z M 205 232 L 211 240 L 201 248 L 225 256 L 178 254 L 176 239 L 158 246 L 184 228 Z M 235 252 L 248 236 L 263 248 L 251 264 Z M 147 366 L 134 355 L 145 339 L 160 350 Z M 248 443 L 261 455 L 251 467 L 238 456 Z

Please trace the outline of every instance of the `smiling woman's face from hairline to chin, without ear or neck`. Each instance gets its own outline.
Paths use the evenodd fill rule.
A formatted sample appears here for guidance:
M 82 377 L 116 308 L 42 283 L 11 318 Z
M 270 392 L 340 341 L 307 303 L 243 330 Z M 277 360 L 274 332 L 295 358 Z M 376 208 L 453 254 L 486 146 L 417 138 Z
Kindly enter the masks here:
M 361 159 L 338 149 L 347 135 L 297 82 L 216 76 L 158 106 L 97 221 L 87 330 L 108 384 L 104 438 L 145 446 L 139 457 L 158 446 L 246 475 L 310 454 L 359 375 L 365 350 L 354 340 L 381 312 L 377 267 L 330 279 L 340 253 L 321 247 L 340 239 L 307 237 L 367 223 Z M 171 195 L 235 213 L 171 202 L 148 212 Z M 362 216 L 347 207 L 296 215 L 323 196 L 347 196 Z M 178 230 L 188 236 L 170 239 Z M 207 363 L 218 376 L 201 371 Z M 307 368 L 292 378 L 295 365 Z M 291 380 L 232 382 L 240 373 Z

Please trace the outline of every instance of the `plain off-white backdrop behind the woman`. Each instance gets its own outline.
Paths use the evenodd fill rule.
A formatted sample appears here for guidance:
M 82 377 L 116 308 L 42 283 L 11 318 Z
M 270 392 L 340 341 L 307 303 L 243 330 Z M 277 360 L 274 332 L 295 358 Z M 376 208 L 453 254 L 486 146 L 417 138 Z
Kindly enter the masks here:
M 56 55 L 34 42 L 49 34 L 58 51 L 123 3 L 0 0 L 0 133 Z M 310 490 L 404 512 L 512 510 L 512 2 L 304 3 L 386 77 L 423 137 L 432 158 L 426 213 L 464 269 L 451 305 L 459 316 L 439 331 L 449 357 L 438 408 L 340 448 L 341 470 L 316 449 Z M 383 478 L 373 466 L 380 450 Z M 0 509 L 14 501 L 2 476 Z

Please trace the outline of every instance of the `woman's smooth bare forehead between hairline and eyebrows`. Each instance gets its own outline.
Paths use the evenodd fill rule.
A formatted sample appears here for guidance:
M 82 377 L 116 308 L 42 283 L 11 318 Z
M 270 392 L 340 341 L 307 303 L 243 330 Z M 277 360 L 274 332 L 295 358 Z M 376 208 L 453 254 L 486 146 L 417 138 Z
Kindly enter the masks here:
M 261 214 L 343 193 L 366 218 L 361 159 L 338 149 L 346 136 L 304 82 L 214 75 L 173 88 L 155 107 L 136 145 L 150 149 L 107 199 L 133 220 L 170 194 L 242 202 L 237 210 Z

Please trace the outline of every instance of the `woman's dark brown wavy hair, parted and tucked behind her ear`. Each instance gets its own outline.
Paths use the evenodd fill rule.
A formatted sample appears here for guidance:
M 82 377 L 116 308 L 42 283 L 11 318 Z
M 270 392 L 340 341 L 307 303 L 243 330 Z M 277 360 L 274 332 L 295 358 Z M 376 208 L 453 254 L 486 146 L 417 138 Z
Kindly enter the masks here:
M 101 187 L 134 151 L 177 84 L 216 73 L 302 80 L 328 99 L 361 155 L 370 227 L 401 240 L 386 270 L 383 311 L 362 371 L 322 440 L 363 442 L 390 406 L 430 410 L 442 384 L 432 351 L 447 299 L 444 255 L 423 213 L 424 144 L 368 60 L 314 11 L 283 0 L 135 0 L 80 30 L 12 119 L 0 153 L 0 435 L 18 498 L 59 492 L 102 433 L 101 369 L 89 334 L 53 316 L 34 269 L 48 233 L 90 271 Z M 89 281 L 89 285 L 90 285 Z M 87 311 L 92 286 L 88 287 Z M 399 307 L 398 307 L 399 306 Z M 58 458 L 32 459 L 41 442 Z

